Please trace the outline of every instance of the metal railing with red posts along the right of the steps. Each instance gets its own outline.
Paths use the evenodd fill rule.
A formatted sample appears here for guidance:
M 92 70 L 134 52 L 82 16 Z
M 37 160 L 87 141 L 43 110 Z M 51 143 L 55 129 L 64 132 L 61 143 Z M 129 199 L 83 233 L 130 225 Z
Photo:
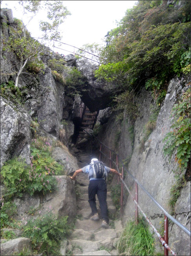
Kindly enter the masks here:
M 85 131 L 87 134 L 89 134 L 89 132 Z M 95 135 L 93 134 L 89 134 L 92 137 L 95 137 Z M 95 139 L 100 143 L 100 149 L 98 149 L 98 151 L 100 152 L 100 158 L 101 158 L 101 154 L 103 154 L 106 158 L 109 159 L 110 161 L 110 168 L 111 168 L 111 162 L 113 162 L 116 165 L 116 169 L 119 173 L 119 169 L 118 169 L 118 160 L 120 160 L 119 155 L 112 150 L 111 148 L 107 147 L 104 143 L 102 143 L 99 139 L 97 139 L 95 137 Z M 93 143 L 93 140 L 92 140 Z M 104 152 L 102 152 L 102 146 L 106 147 L 109 150 L 109 157 L 104 154 Z M 116 162 L 113 161 L 111 159 L 111 152 L 113 152 L 114 154 L 116 154 Z M 122 163 L 122 161 L 121 161 Z M 133 195 L 131 194 L 131 191 L 129 190 L 129 188 L 127 187 L 126 183 L 123 180 L 123 172 L 124 170 L 131 176 L 131 178 L 133 178 L 133 180 L 135 181 L 135 197 L 133 197 Z M 141 211 L 142 215 L 145 217 L 146 221 L 149 223 L 149 225 L 151 226 L 151 228 L 153 229 L 153 231 L 155 232 L 155 234 L 158 236 L 160 243 L 162 243 L 162 245 L 164 246 L 164 255 L 168 255 L 168 252 L 170 252 L 172 255 L 176 255 L 175 252 L 173 252 L 173 250 L 171 250 L 171 248 L 168 246 L 168 219 L 170 219 L 173 223 L 175 223 L 179 228 L 181 228 L 187 235 L 191 236 L 191 232 L 185 227 L 183 226 L 179 221 L 177 221 L 173 216 L 171 216 L 156 200 L 155 198 L 153 198 L 151 196 L 151 194 L 142 186 L 142 184 L 140 184 L 140 182 L 138 182 L 138 180 L 126 169 L 126 167 L 124 166 L 124 163 L 122 163 L 122 178 L 120 177 L 121 180 L 121 200 L 120 200 L 120 205 L 121 205 L 121 212 L 122 212 L 122 207 L 123 207 L 123 186 L 126 187 L 127 191 L 129 192 L 129 195 L 131 195 L 133 201 L 135 202 L 135 223 L 138 224 L 138 209 Z M 158 208 L 160 208 L 160 210 L 164 213 L 164 237 L 162 237 L 158 231 L 156 230 L 155 226 L 153 226 L 153 224 L 151 223 L 151 221 L 148 219 L 148 217 L 146 216 L 146 214 L 144 213 L 144 211 L 140 208 L 140 206 L 138 205 L 138 185 L 140 186 L 140 188 L 144 191 L 144 193 L 147 194 L 148 197 L 151 198 L 151 200 L 156 204 L 156 206 Z

